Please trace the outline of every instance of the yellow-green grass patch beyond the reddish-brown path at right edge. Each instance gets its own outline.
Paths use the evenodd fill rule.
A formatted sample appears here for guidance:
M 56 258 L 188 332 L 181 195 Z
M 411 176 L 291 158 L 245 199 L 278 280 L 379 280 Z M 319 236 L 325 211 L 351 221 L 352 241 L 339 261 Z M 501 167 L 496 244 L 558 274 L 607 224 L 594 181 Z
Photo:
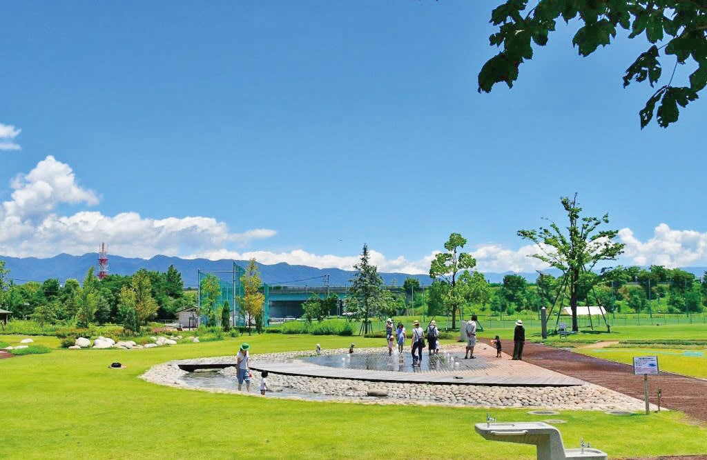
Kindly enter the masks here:
M 576 348 L 575 351 L 631 365 L 634 356 L 655 355 L 658 356 L 660 370 L 707 379 L 707 348 L 702 350 L 695 348 L 682 350 L 677 348 L 600 348 L 594 350 Z M 701 355 L 697 355 L 698 353 Z

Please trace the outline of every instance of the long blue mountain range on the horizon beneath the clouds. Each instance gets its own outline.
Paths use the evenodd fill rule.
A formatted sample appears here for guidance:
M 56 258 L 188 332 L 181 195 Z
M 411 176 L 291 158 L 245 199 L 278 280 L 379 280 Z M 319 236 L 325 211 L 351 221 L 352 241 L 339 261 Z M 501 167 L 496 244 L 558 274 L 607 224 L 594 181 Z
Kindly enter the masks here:
M 182 273 L 182 280 L 185 286 L 195 288 L 197 286 L 197 270 L 201 271 L 216 271 L 230 270 L 233 266 L 232 260 L 217 260 L 208 259 L 180 259 L 179 257 L 154 256 L 151 259 L 137 259 L 122 256 L 108 256 L 109 273 L 119 275 L 131 275 L 139 269 L 148 269 L 155 271 L 167 271 L 168 266 L 174 265 L 175 268 Z M 83 256 L 71 256 L 69 254 L 59 254 L 58 256 L 49 257 L 47 259 L 37 259 L 36 257 L 7 257 L 0 256 L 0 260 L 4 260 L 5 268 L 10 269 L 9 278 L 16 283 L 25 283 L 27 281 L 45 281 L 48 278 L 59 278 L 61 283 L 64 283 L 68 278 L 75 278 L 78 281 L 83 280 L 86 276 L 86 271 L 91 266 L 98 271 L 98 253 L 83 254 Z M 248 261 L 235 261 L 236 264 L 245 267 Z M 340 269 L 317 269 L 306 265 L 290 265 L 290 264 L 274 264 L 264 265 L 258 264 L 263 282 L 268 284 L 284 284 L 284 285 L 322 285 L 322 276 L 329 275 L 329 285 L 341 286 L 349 282 L 354 276 L 354 271 Z M 702 276 L 707 267 L 686 267 L 683 270 L 694 273 L 695 276 Z M 559 271 L 548 269 L 545 273 L 553 276 L 558 276 Z M 515 273 L 506 271 L 503 273 L 484 273 L 486 279 L 491 283 L 501 283 L 503 277 L 509 274 L 517 274 L 534 282 L 537 278 L 537 273 Z M 397 284 L 402 285 L 405 278 L 417 278 L 422 285 L 429 285 L 431 279 L 427 275 L 408 275 L 407 273 L 380 273 L 383 281 L 387 285 Z

